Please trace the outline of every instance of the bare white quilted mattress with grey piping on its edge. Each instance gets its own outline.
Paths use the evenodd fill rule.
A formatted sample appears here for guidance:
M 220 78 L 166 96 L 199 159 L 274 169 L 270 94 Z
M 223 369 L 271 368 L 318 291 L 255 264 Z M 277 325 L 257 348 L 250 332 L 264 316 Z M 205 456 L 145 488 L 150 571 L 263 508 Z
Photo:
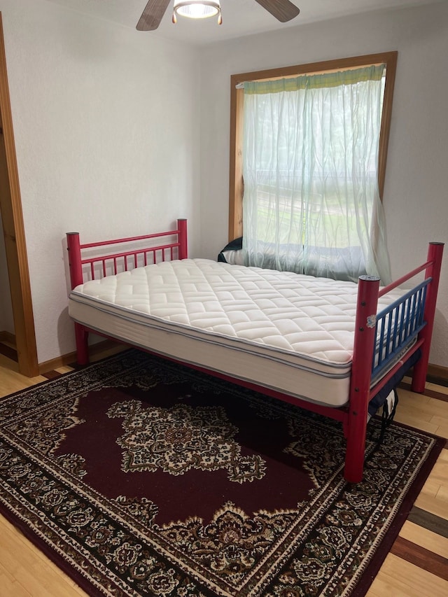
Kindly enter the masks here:
M 339 407 L 348 401 L 355 283 L 186 259 L 77 286 L 69 315 L 143 349 Z M 398 297 L 379 299 L 378 311 Z

